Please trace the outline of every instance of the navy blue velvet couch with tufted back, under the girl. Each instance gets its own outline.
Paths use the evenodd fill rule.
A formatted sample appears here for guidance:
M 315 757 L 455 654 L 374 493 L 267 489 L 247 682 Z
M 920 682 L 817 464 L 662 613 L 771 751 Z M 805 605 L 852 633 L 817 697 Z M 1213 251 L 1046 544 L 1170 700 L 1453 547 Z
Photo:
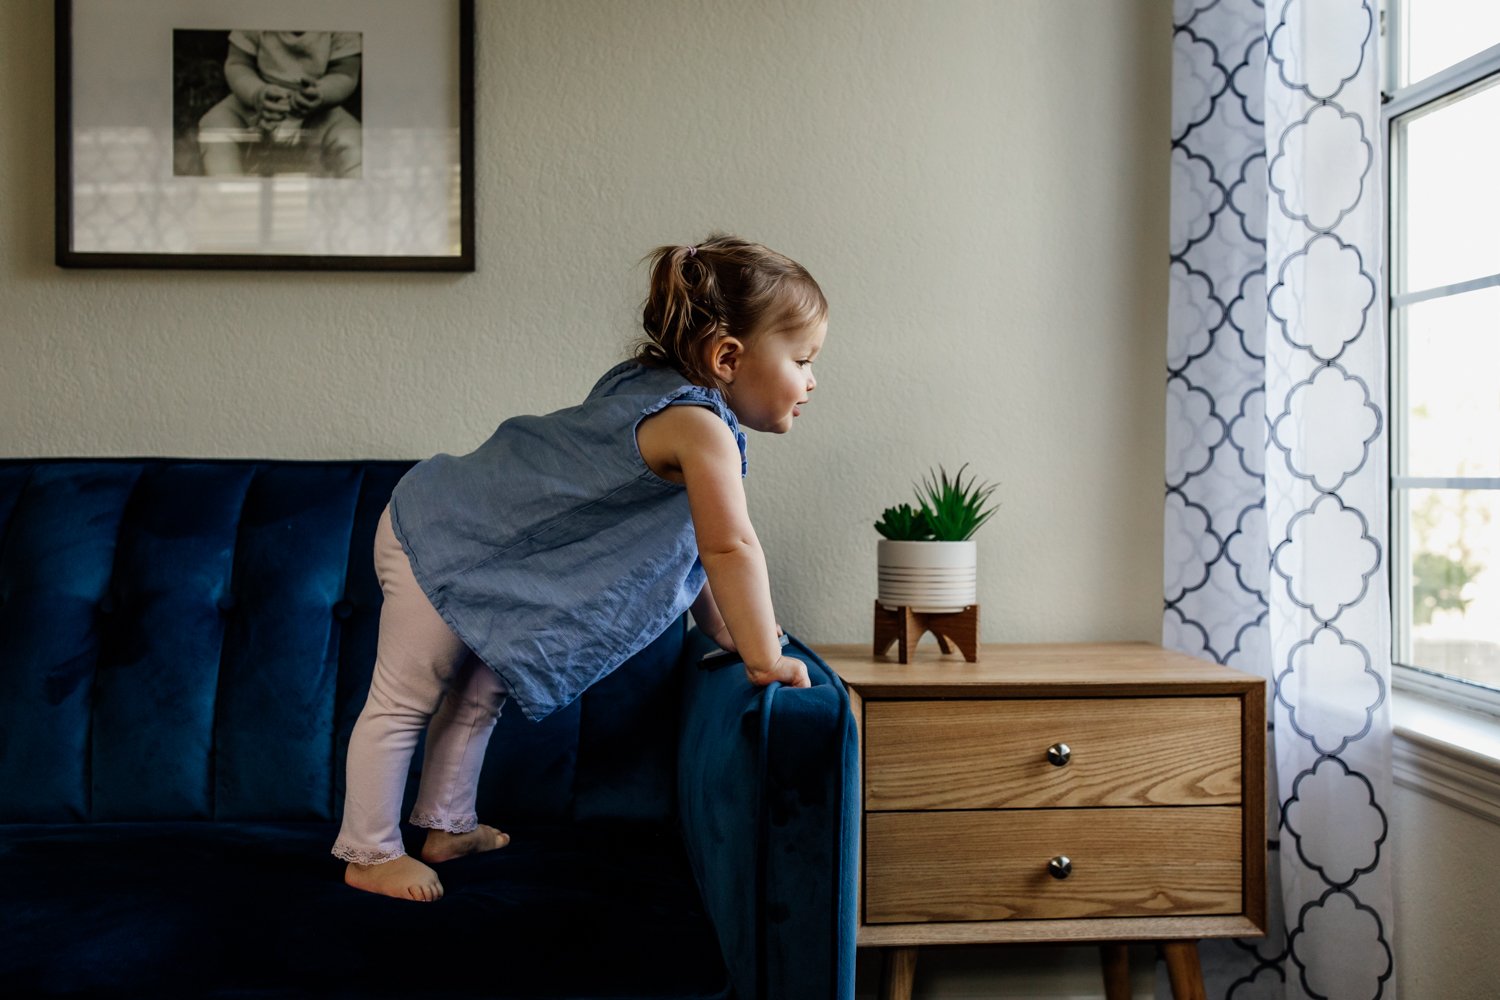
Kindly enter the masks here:
M 344 885 L 408 466 L 0 462 L 0 993 L 852 997 L 856 736 L 795 640 L 810 690 L 699 667 L 684 618 L 502 712 L 480 816 L 512 844 L 434 904 Z

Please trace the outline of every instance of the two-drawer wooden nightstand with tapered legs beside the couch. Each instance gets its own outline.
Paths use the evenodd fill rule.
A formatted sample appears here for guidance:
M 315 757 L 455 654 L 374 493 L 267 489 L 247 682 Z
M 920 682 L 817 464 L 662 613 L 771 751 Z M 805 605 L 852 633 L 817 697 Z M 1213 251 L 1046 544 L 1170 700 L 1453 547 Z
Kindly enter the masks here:
M 1158 942 L 1186 1000 L 1198 939 L 1264 934 L 1262 678 L 1146 643 L 818 654 L 860 726 L 882 997 L 910 997 L 921 945 L 1104 942 L 1128 1000 L 1126 942 Z

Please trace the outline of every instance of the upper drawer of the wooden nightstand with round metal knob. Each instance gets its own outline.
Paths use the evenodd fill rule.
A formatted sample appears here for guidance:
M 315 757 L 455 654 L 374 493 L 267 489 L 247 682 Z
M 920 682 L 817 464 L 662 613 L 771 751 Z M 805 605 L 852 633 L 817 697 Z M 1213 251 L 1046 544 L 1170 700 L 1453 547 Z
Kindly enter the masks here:
M 1233 805 L 1238 697 L 867 702 L 867 810 Z M 1048 748 L 1066 744 L 1066 763 Z

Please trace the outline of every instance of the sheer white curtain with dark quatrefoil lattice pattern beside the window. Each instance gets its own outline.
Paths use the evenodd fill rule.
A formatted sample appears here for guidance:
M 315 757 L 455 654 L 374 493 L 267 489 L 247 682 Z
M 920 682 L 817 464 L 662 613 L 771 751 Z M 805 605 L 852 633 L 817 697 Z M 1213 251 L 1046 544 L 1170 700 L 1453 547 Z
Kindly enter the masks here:
M 1376 0 L 1178 0 L 1162 642 L 1272 684 L 1272 928 L 1210 997 L 1394 997 Z

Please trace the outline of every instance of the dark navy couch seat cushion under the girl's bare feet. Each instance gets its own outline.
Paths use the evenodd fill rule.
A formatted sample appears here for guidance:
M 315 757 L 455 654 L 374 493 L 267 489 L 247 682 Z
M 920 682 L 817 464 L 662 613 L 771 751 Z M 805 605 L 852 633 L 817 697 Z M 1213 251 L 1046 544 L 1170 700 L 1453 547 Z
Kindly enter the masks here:
M 507 825 L 432 904 L 344 885 L 328 823 L 0 829 L 8 993 L 728 997 L 675 837 Z M 408 850 L 420 846 L 408 837 Z

